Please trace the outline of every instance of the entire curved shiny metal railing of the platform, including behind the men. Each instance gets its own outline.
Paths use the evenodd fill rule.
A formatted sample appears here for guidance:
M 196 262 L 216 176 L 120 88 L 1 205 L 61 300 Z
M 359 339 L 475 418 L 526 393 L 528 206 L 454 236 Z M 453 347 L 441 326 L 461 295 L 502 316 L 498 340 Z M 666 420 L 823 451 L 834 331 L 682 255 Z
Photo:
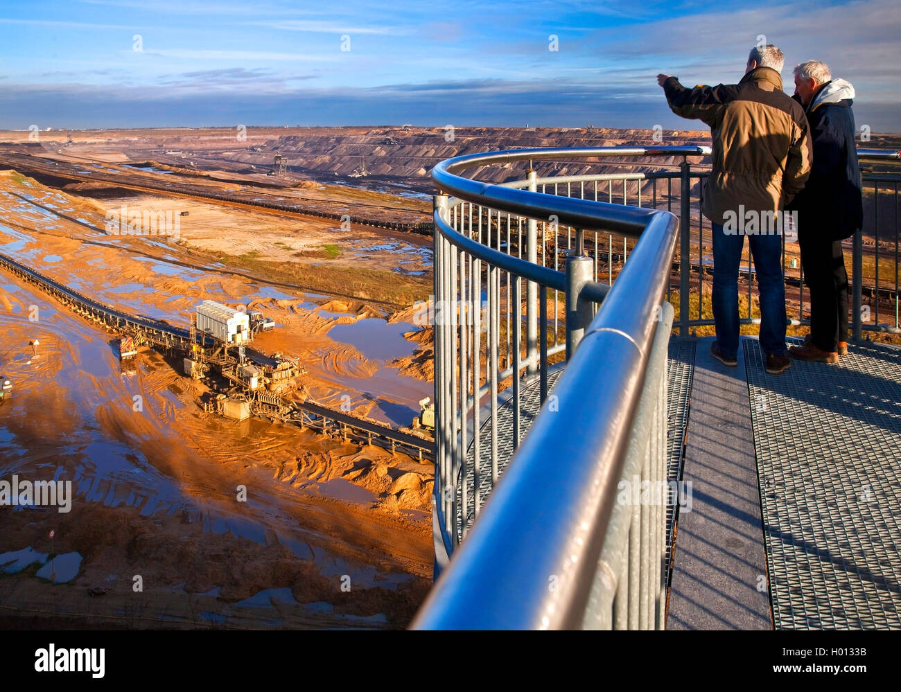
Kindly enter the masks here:
M 636 475 L 667 481 L 660 461 L 666 442 L 660 343 L 669 338 L 672 316 L 664 297 L 676 295 L 682 335 L 713 323 L 705 315 L 712 259 L 705 256 L 699 211 L 707 171 L 688 162 L 709 152 L 517 150 L 450 159 L 433 169 L 442 193 L 453 195 L 436 196 L 434 214 L 436 573 L 451 553 L 454 562 L 415 626 L 663 625 L 664 508 L 613 498 L 617 481 Z M 862 160 L 898 158 L 859 153 Z M 538 178 L 532 168 L 545 161 L 596 166 L 598 159 L 623 168 L 636 157 L 659 169 Z M 457 175 L 525 162 L 522 179 L 499 185 Z M 878 186 L 884 192 L 894 184 L 896 239 L 897 180 L 865 177 L 876 186 L 874 214 L 882 208 Z M 680 223 L 668 213 L 673 209 Z M 877 305 L 881 296 L 884 306 L 887 296 L 878 281 L 878 243 L 875 281 L 860 270 L 866 255 L 860 237 L 853 248 L 858 335 L 860 328 L 896 331 L 897 259 L 888 296 L 894 327 L 861 324 L 861 296 L 869 291 Z M 759 322 L 747 253 L 743 323 Z M 789 282 L 793 253 L 784 248 Z M 796 281 L 792 323 L 799 324 L 807 322 L 799 271 Z M 690 296 L 698 296 L 697 305 Z

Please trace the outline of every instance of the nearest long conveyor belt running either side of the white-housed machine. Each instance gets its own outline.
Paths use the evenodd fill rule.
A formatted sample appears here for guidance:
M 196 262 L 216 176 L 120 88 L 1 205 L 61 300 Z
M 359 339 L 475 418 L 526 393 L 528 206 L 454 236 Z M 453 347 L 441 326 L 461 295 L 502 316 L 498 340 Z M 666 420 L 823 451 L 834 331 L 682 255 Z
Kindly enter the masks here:
M 4 254 L 0 254 L 0 268 L 40 288 L 41 291 L 56 298 L 87 321 L 95 322 L 98 326 L 102 325 L 121 335 L 132 336 L 139 344 L 183 353 L 192 353 L 197 345 L 201 348 L 216 345 L 212 337 L 202 332 L 192 335 L 187 329 L 160 320 L 123 313 L 121 310 L 64 286 L 59 281 L 26 267 L 21 262 Z M 276 360 L 250 348 L 246 349 L 246 356 L 248 360 L 263 367 L 271 368 L 278 364 Z M 313 402 L 296 402 L 278 395 L 268 394 L 262 394 L 256 398 L 259 399 L 257 403 L 260 404 L 258 408 L 261 415 L 267 415 L 268 406 L 272 407 L 273 411 L 284 408 L 288 411 L 284 420 L 296 423 L 301 427 L 337 433 L 344 439 L 353 438 L 369 443 L 378 442 L 381 446 L 390 448 L 391 451 L 400 449 L 412 452 L 420 460 L 434 459 L 434 442 L 408 432 L 398 431 L 374 421 L 366 421 Z

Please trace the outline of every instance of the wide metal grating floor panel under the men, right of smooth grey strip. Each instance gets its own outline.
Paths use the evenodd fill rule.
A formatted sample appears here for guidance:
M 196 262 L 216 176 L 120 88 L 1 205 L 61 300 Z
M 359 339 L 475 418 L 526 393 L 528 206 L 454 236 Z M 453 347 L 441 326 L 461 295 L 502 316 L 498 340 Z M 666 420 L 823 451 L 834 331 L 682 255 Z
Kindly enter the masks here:
M 742 341 L 775 626 L 901 628 L 901 350 L 771 376 Z

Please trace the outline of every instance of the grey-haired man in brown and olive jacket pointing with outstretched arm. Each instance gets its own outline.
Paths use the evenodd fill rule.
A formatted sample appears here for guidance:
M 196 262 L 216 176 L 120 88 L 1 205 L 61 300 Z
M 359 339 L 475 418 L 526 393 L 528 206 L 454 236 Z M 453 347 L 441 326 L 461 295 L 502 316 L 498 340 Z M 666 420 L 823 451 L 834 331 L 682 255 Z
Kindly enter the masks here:
M 726 365 L 738 364 L 738 273 L 748 235 L 760 288 L 760 348 L 772 374 L 791 364 L 782 211 L 804 187 L 811 165 L 804 109 L 782 90 L 784 62 L 782 51 L 768 45 L 751 50 L 738 84 L 688 89 L 676 77 L 657 77 L 673 113 L 704 121 L 713 138 L 702 205 L 714 228 L 716 341 L 710 352 Z

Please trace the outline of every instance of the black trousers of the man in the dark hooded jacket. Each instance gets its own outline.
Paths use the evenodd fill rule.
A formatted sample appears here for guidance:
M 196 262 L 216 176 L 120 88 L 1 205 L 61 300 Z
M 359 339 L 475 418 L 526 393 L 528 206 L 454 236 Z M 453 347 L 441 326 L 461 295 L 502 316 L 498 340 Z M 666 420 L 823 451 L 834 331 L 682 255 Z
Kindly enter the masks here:
M 839 341 L 848 341 L 848 272 L 842 241 L 801 233 L 798 244 L 804 282 L 810 288 L 811 341 L 823 351 L 838 351 Z

